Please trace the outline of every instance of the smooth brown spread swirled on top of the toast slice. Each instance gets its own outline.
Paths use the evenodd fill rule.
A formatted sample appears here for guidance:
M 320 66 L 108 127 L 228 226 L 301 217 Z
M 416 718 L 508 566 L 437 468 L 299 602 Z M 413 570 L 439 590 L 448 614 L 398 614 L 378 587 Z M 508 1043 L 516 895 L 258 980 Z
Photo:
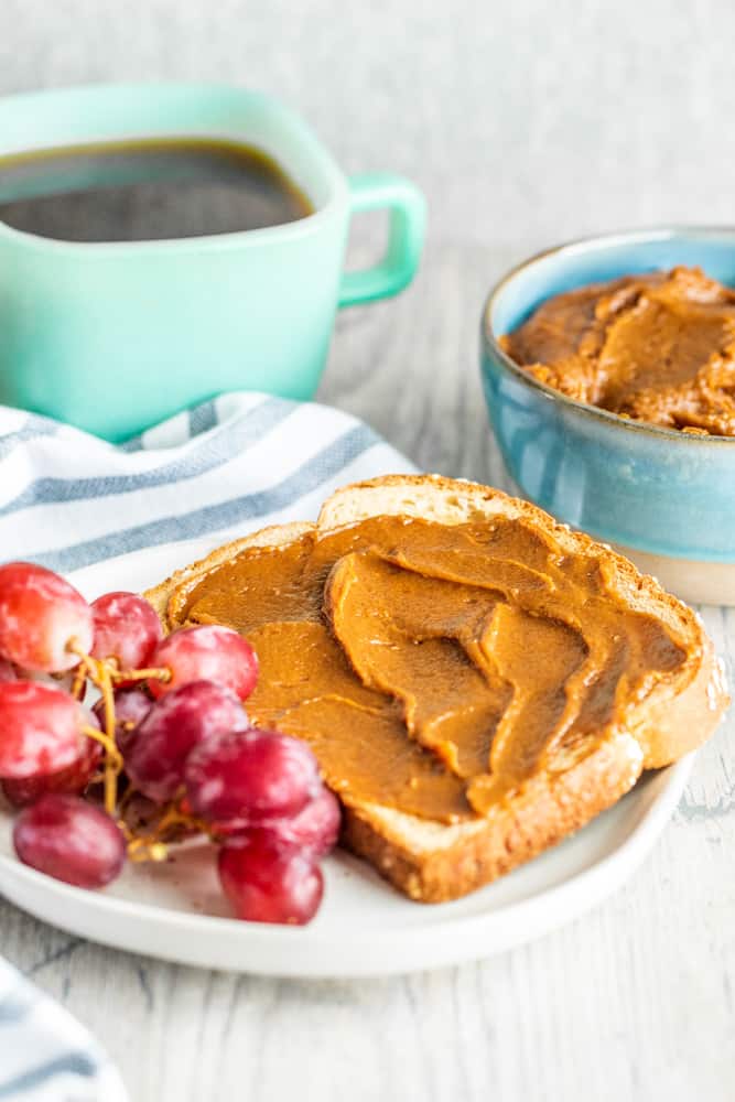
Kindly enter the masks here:
M 169 614 L 247 636 L 248 713 L 306 739 L 345 802 L 456 822 L 587 753 L 680 671 L 685 649 L 618 584 L 522 519 L 375 517 L 247 549 Z

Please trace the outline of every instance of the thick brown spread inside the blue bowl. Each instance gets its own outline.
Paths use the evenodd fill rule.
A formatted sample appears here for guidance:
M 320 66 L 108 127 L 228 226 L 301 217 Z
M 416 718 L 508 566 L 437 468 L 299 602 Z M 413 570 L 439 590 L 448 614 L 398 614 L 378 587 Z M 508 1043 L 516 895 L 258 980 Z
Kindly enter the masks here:
M 735 291 L 700 268 L 556 294 L 500 346 L 575 401 L 663 428 L 735 436 Z

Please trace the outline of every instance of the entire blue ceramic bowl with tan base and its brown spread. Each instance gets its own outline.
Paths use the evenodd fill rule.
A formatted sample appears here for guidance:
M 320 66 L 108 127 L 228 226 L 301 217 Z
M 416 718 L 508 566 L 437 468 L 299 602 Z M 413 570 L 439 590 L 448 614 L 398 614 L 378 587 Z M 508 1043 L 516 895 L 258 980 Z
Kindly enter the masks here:
M 735 230 L 544 252 L 493 291 L 482 342 L 521 491 L 681 596 L 735 604 Z

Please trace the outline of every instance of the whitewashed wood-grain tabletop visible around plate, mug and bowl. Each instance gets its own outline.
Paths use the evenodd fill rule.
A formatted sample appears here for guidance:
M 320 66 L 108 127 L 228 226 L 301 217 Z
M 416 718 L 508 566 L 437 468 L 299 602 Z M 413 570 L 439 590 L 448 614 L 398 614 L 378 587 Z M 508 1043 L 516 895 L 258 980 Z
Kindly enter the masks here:
M 422 467 L 502 485 L 476 357 L 483 295 L 510 259 L 430 250 L 410 293 L 343 316 L 321 397 Z M 732 674 L 735 611 L 704 618 Z M 731 720 L 626 887 L 478 964 L 363 982 L 216 974 L 69 938 L 2 903 L 1 951 L 96 1033 L 132 1102 L 726 1102 L 734 786 Z

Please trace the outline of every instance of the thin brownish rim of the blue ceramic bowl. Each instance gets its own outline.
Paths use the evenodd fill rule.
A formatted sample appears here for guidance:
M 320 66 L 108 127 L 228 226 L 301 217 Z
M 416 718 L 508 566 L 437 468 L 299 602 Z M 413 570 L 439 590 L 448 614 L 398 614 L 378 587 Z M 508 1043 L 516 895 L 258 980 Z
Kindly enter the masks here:
M 564 241 L 561 245 L 552 245 L 549 248 L 541 249 L 541 251 L 533 253 L 526 260 L 521 260 L 520 263 L 510 268 L 490 289 L 485 299 L 480 315 L 480 335 L 483 344 L 490 347 L 493 354 L 499 360 L 502 368 L 510 375 L 515 376 L 520 382 L 526 383 L 532 390 L 540 391 L 545 398 L 570 408 L 581 417 L 595 421 L 602 421 L 609 426 L 627 432 L 638 433 L 639 435 L 642 433 L 653 437 L 660 436 L 663 440 L 678 441 L 683 447 L 735 446 L 735 436 L 722 436 L 715 435 L 714 433 L 682 432 L 681 429 L 666 429 L 662 425 L 649 424 L 646 421 L 634 421 L 633 419 L 620 417 L 619 413 L 612 413 L 609 410 L 601 409 L 598 406 L 590 406 L 586 402 L 576 401 L 576 399 L 570 398 L 568 395 L 563 395 L 560 390 L 555 390 L 548 383 L 541 382 L 540 379 L 529 375 L 528 371 L 525 371 L 523 368 L 511 359 L 511 357 L 508 356 L 508 354 L 500 347 L 493 328 L 493 311 L 495 310 L 498 298 L 502 294 L 505 289 L 518 276 L 526 271 L 526 269 L 532 268 L 534 264 L 539 263 L 541 260 L 545 260 L 548 257 L 552 257 L 556 253 L 574 255 L 576 252 L 593 251 L 602 246 L 652 244 L 655 241 L 666 241 L 684 236 L 692 238 L 701 237 L 703 239 L 713 237 L 731 238 L 735 250 L 735 227 L 695 226 L 687 224 L 655 226 L 649 229 L 618 230 L 609 234 L 594 234 L 586 237 L 577 237 L 571 241 Z M 551 295 L 549 298 L 551 298 Z

